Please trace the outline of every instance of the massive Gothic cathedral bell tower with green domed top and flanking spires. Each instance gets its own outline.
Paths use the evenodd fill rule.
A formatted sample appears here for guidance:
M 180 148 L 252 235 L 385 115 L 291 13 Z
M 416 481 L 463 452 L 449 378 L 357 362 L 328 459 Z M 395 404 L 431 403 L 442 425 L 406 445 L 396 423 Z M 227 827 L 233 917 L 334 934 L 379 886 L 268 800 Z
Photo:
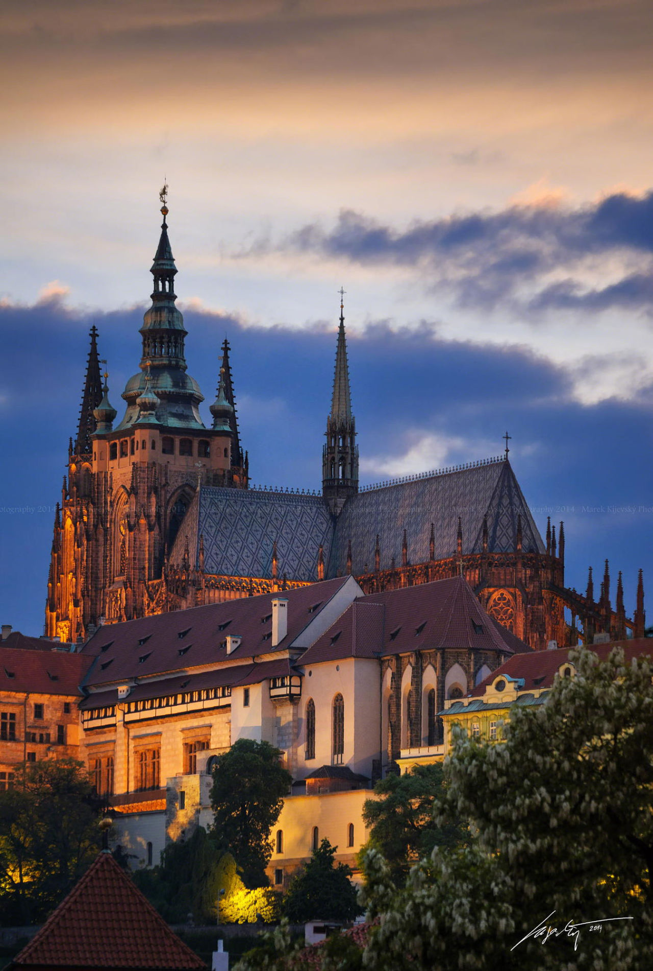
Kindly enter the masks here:
M 122 393 L 127 407 L 117 425 L 91 331 L 82 415 L 50 563 L 46 629 L 62 640 L 83 637 L 102 620 L 167 609 L 168 555 L 199 489 L 247 487 L 226 350 L 210 426 L 199 413 L 199 385 L 187 374 L 166 193 L 164 187 L 140 369 Z

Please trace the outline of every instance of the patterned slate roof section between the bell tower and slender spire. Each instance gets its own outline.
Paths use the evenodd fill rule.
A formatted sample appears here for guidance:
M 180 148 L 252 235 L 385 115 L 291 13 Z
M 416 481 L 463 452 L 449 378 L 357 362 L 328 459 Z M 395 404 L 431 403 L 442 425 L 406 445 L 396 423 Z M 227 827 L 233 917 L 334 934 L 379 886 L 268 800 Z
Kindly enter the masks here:
M 320 545 L 325 562 L 328 558 L 333 520 L 321 495 L 202 486 L 181 523 L 170 562 L 181 562 L 187 542 L 195 566 L 200 536 L 207 573 L 270 578 L 277 543 L 278 577 L 314 582 Z

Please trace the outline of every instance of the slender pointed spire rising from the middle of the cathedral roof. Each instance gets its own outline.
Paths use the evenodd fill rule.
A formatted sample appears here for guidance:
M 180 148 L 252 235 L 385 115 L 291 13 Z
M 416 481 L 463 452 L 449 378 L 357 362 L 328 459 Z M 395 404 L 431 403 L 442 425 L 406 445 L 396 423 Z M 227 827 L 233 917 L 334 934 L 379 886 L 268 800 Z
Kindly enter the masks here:
M 327 419 L 327 441 L 322 451 L 322 494 L 333 516 L 340 515 L 348 497 L 358 492 L 358 447 L 356 421 L 351 414 L 343 294 L 344 290 L 341 290 L 341 322 L 331 414 Z

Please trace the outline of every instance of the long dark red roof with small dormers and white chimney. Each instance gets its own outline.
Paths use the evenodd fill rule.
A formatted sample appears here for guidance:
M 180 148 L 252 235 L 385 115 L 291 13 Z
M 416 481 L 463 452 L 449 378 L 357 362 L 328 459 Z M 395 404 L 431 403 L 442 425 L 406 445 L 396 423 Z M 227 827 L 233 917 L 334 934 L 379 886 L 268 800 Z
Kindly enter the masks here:
M 293 590 L 107 624 L 82 649 L 82 653 L 96 656 L 86 683 L 115 684 L 182 667 L 249 660 L 258 654 L 285 651 L 316 616 L 317 608 L 323 608 L 349 579 L 340 577 Z M 288 601 L 288 633 L 277 648 L 271 647 L 269 636 L 275 597 Z M 232 654 L 221 646 L 228 634 L 243 638 Z M 182 656 L 181 648 L 188 648 Z

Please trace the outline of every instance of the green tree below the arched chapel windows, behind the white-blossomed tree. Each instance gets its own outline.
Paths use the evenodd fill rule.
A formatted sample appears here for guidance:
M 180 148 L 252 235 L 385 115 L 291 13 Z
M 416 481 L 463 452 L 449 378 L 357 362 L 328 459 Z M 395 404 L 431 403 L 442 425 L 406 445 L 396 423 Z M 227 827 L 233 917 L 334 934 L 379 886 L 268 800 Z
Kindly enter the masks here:
M 376 783 L 375 796 L 363 806 L 370 838 L 359 858 L 371 848 L 378 850 L 397 884 L 406 881 L 411 862 L 428 856 L 436 846 L 451 848 L 466 839 L 457 821 L 439 825 L 434 820 L 434 808 L 444 798 L 441 764 L 415 765 L 403 776 L 386 776 Z

